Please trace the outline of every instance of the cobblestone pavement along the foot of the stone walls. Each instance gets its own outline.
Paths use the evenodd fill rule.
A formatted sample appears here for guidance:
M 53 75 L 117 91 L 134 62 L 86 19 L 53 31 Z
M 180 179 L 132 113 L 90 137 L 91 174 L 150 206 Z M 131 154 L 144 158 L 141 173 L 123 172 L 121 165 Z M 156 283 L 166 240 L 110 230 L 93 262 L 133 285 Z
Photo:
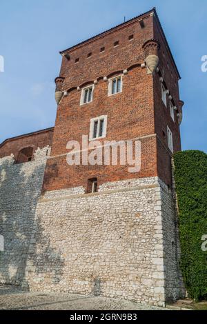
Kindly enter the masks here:
M 0 310 L 165 310 L 120 298 L 79 294 L 24 292 L 0 285 Z

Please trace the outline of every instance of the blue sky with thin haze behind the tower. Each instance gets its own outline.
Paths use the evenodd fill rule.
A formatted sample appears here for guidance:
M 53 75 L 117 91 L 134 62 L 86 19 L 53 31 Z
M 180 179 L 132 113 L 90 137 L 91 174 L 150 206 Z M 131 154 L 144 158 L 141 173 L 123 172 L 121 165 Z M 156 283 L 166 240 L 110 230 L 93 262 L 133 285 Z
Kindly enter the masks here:
M 206 0 L 0 0 L 0 143 L 54 125 L 59 50 L 154 6 L 182 77 L 182 148 L 207 152 Z

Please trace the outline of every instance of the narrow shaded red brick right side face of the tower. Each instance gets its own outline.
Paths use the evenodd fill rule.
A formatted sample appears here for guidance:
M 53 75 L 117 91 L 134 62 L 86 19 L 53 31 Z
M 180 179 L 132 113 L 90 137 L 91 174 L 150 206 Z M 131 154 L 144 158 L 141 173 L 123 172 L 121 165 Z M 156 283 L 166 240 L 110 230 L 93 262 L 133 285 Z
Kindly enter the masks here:
M 161 77 L 170 91 L 173 101 L 179 110 L 179 76 L 175 65 L 172 62 L 170 53 L 166 46 L 166 41 L 159 28 L 157 19 L 154 19 L 154 38 L 158 39 L 159 49 L 159 70 Z M 175 122 L 170 116 L 170 100 L 167 95 L 167 107 L 161 99 L 160 74 L 154 75 L 154 105 L 155 105 L 155 132 L 160 141 L 157 141 L 157 173 L 167 184 L 171 185 L 171 165 L 172 154 L 168 149 L 167 126 L 172 132 L 174 152 L 181 150 L 181 140 L 177 112 L 175 112 Z M 164 133 L 166 136 L 164 136 Z

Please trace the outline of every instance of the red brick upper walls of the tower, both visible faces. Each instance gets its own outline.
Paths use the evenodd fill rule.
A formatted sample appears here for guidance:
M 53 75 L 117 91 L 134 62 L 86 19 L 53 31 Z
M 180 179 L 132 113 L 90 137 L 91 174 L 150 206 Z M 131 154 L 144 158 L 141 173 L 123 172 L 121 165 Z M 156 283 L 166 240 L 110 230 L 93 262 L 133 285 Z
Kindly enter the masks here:
M 167 125 L 173 134 L 174 149 L 180 150 L 179 125 L 175 114 L 175 123 L 170 117 L 169 107 L 161 101 L 159 74 L 147 74 L 141 69 L 144 63 L 142 45 L 148 39 L 158 39 L 159 68 L 170 93 L 179 105 L 178 74 L 156 17 L 144 16 L 145 27 L 141 28 L 137 19 L 115 28 L 95 39 L 86 41 L 68 50 L 70 61 L 63 57 L 60 76 L 65 78 L 62 90 L 68 90 L 68 97 L 63 97 L 57 110 L 55 132 L 51 158 L 46 165 L 43 190 L 57 190 L 84 186 L 88 179 L 97 177 L 98 185 L 106 181 L 132 179 L 159 175 L 171 185 L 171 153 L 167 144 Z M 133 34 L 134 39 L 128 41 Z M 115 41 L 119 46 L 114 48 Z M 105 51 L 100 53 L 100 49 Z M 88 58 L 88 53 L 92 53 Z M 79 62 L 75 63 L 75 59 Z M 139 65 L 136 65 L 139 63 Z M 136 66 L 135 66 L 136 65 Z M 130 69 L 129 69 L 130 68 Z M 128 69 L 123 77 L 123 92 L 108 97 L 108 82 L 103 77 L 113 73 L 119 75 Z M 95 85 L 92 103 L 80 105 L 81 91 L 77 87 Z M 101 115 L 108 116 L 106 139 L 127 140 L 140 136 L 154 136 L 141 139 L 141 171 L 128 173 L 126 166 L 69 166 L 66 162 L 66 144 L 70 140 L 81 142 L 81 136 L 89 134 L 90 119 Z M 164 132 L 166 137 L 164 138 Z M 103 141 L 101 140 L 101 141 Z M 60 156 L 61 155 L 61 156 Z

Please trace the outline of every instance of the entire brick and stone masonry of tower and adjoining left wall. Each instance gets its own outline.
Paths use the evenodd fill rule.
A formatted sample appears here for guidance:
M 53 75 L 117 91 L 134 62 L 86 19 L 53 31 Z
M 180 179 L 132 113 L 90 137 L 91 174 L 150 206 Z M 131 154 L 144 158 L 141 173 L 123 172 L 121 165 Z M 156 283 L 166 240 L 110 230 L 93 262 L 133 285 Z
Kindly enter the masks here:
M 143 46 L 149 40 L 155 46 L 148 54 L 159 48 L 159 69 L 152 74 L 144 66 Z M 166 136 L 168 125 L 175 152 L 181 150 L 177 114 L 183 103 L 159 19 L 151 10 L 66 52 L 56 79 L 61 101 L 55 128 L 0 145 L 0 234 L 6 247 L 0 282 L 164 306 L 184 296 Z M 108 79 L 119 74 L 124 74 L 123 90 L 108 97 Z M 167 107 L 161 81 L 168 90 Z M 89 84 L 95 85 L 93 101 L 80 105 L 79 89 Z M 65 97 L 62 91 L 68 92 Z M 81 141 L 89 134 L 90 119 L 101 115 L 108 117 L 106 140 L 141 141 L 140 172 L 128 173 L 128 165 L 66 163 L 68 141 Z M 34 151 L 32 161 L 15 164 L 19 151 L 28 147 Z M 98 179 L 98 192 L 86 194 L 91 178 Z

